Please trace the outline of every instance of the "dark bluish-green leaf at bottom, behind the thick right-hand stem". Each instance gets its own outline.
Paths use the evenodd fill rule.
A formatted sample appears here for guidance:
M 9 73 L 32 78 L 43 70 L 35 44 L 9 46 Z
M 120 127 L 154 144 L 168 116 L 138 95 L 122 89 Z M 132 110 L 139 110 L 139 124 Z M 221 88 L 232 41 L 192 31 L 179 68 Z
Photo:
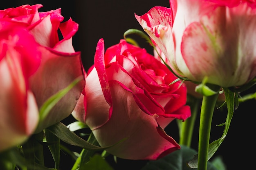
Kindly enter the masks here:
M 187 161 L 197 154 L 194 149 L 181 145 L 180 150 L 166 155 L 156 161 L 149 161 L 141 170 L 191 170 Z M 218 170 L 211 162 L 207 163 L 207 170 Z

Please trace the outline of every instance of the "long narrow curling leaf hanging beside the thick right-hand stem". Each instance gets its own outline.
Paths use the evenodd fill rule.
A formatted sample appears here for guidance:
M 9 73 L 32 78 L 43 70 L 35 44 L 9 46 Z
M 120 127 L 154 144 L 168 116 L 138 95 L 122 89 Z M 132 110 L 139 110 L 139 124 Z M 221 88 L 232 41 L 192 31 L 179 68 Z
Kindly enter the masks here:
M 225 98 L 226 98 L 227 110 L 228 110 L 227 118 L 226 118 L 226 122 L 225 122 L 225 128 L 224 128 L 223 134 L 220 137 L 220 139 L 217 139 L 217 140 L 213 141 L 211 144 L 209 144 L 208 160 L 214 155 L 214 153 L 216 153 L 220 144 L 224 141 L 224 139 L 227 135 L 227 132 L 229 130 L 231 119 L 234 114 L 235 94 L 228 88 L 223 88 L 223 89 L 225 92 Z M 188 165 L 191 168 L 197 168 L 198 167 L 198 155 L 195 155 L 195 157 L 191 161 L 189 161 Z

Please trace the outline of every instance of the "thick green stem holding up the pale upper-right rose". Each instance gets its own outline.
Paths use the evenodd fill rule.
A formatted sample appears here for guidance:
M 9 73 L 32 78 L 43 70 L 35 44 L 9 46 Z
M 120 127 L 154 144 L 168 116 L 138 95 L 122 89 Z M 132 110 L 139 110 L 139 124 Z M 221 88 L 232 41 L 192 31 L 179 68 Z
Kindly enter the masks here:
M 204 96 L 202 100 L 198 142 L 198 170 L 207 170 L 211 121 L 218 95 Z

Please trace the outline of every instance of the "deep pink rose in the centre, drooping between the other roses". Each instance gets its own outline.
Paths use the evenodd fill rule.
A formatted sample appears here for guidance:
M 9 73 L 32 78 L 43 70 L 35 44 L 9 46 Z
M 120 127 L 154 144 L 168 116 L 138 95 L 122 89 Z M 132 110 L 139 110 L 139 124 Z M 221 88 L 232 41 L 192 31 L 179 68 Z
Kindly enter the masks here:
M 85 122 L 101 146 L 124 159 L 158 159 L 180 149 L 164 128 L 186 120 L 186 87 L 145 49 L 126 43 L 106 50 L 100 39 L 84 97 L 73 116 Z M 84 100 L 84 107 L 81 105 Z

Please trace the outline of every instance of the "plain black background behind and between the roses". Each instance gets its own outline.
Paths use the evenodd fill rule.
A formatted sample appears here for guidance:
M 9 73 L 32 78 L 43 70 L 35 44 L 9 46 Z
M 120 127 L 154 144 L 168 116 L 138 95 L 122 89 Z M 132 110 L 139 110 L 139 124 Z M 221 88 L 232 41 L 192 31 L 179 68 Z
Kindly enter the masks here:
M 92 64 L 97 42 L 100 38 L 105 41 L 105 49 L 119 43 L 123 34 L 130 28 L 143 29 L 134 17 L 143 15 L 154 6 L 169 7 L 168 0 L 9 0 L 0 3 L 0 9 L 9 7 L 18 7 L 22 4 L 43 4 L 39 11 L 49 11 L 61 8 L 64 21 L 70 17 L 79 24 L 79 31 L 73 37 L 73 45 L 76 51 L 81 51 L 83 65 L 87 70 Z M 141 47 L 152 53 L 152 48 L 144 43 L 144 40 L 138 39 Z M 255 89 L 255 88 L 254 88 Z M 255 90 L 252 89 L 251 91 Z M 227 166 L 227 170 L 252 170 L 255 168 L 255 100 L 241 103 L 235 111 L 229 133 L 221 144 L 215 156 L 221 155 Z M 213 115 L 211 142 L 221 137 L 223 127 L 216 125 L 225 122 L 227 111 L 216 110 Z M 63 120 L 63 122 L 72 122 L 72 116 Z M 197 150 L 198 142 L 198 123 L 195 124 L 195 135 L 191 147 Z M 173 121 L 166 128 L 168 135 L 171 135 L 178 141 L 177 126 Z M 76 148 L 75 148 L 76 149 Z M 214 156 L 214 157 L 215 157 Z M 68 155 L 62 154 L 61 169 L 71 169 L 72 164 L 67 165 L 64 159 L 71 159 Z M 47 159 L 47 158 L 46 158 Z M 130 161 L 118 159 L 114 163 L 112 157 L 107 160 L 115 170 L 139 170 L 146 161 Z M 70 166 L 70 167 L 69 167 Z

